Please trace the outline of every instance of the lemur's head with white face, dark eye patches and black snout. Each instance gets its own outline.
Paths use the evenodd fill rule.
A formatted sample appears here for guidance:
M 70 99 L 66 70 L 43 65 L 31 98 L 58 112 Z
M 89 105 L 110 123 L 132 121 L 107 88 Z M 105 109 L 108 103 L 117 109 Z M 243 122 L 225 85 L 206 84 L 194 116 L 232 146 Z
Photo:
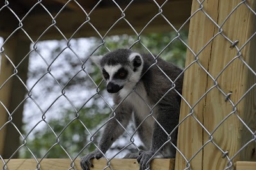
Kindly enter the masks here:
M 105 56 L 93 58 L 93 62 L 100 64 L 102 75 L 107 82 L 107 91 L 117 93 L 120 89 L 129 89 L 140 81 L 143 59 L 140 54 L 130 50 L 117 50 Z M 99 61 L 100 59 L 100 61 Z

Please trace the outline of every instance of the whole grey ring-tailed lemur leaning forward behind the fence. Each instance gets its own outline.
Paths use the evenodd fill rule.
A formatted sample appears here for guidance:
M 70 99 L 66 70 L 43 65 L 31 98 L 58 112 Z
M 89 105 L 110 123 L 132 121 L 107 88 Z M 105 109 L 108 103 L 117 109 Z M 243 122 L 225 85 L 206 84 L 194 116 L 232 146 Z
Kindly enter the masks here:
M 170 134 L 179 122 L 180 111 L 180 97 L 173 88 L 181 94 L 183 81 L 182 70 L 177 66 L 163 59 L 155 60 L 151 55 L 139 54 L 129 49 L 118 49 L 104 56 L 92 56 L 91 59 L 102 70 L 102 75 L 107 82 L 107 90 L 113 93 L 115 105 L 120 104 L 120 101 L 127 95 L 128 97 L 118 105 L 115 113 L 111 114 L 111 118 L 115 118 L 111 119 L 104 129 L 99 143 L 100 151 L 95 150 L 81 158 L 81 167 L 86 170 L 93 166 L 90 162 L 92 158 L 101 158 L 102 153 L 106 153 L 111 144 L 123 134 L 124 129 L 118 121 L 127 127 L 132 114 L 134 114 L 136 127 L 148 114 L 152 114 Z M 174 81 L 178 76 L 175 84 L 172 84 L 169 78 Z M 149 107 L 154 107 L 154 109 L 150 110 Z M 148 116 L 138 128 L 138 135 L 147 151 L 130 153 L 125 156 L 125 158 L 137 158 L 140 169 L 146 169 L 148 160 L 170 139 L 170 136 L 152 116 Z M 171 137 L 172 143 L 176 145 L 177 130 L 172 133 Z M 164 144 L 154 155 L 154 158 L 174 157 L 175 148 L 170 142 Z

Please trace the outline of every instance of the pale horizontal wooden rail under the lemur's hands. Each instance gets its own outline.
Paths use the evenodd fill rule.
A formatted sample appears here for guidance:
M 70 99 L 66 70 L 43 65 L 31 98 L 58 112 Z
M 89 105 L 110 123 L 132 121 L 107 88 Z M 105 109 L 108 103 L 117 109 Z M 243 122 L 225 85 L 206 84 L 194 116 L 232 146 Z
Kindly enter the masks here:
M 7 160 L 4 160 L 7 161 Z M 40 159 L 38 159 L 40 161 Z M 99 160 L 93 159 L 92 160 L 94 167 L 90 169 L 95 170 L 102 170 L 106 167 L 107 161 L 104 158 L 100 158 Z M 167 158 L 157 158 L 152 160 L 151 162 L 151 169 L 152 170 L 172 170 L 174 169 L 174 159 L 167 159 Z M 40 162 L 40 169 L 68 169 L 70 168 L 70 164 L 72 161 L 70 159 L 54 159 L 54 158 L 45 158 Z M 129 169 L 139 169 L 139 164 L 136 159 L 118 159 L 114 158 L 110 161 L 111 167 L 113 169 L 119 170 L 129 170 Z M 3 167 L 4 164 L 1 161 L 0 167 Z M 36 169 L 37 162 L 35 159 L 11 159 L 8 164 L 6 165 L 8 169 Z M 80 167 L 80 160 L 74 161 L 74 166 L 77 170 L 81 169 Z M 108 168 L 109 169 L 109 168 Z

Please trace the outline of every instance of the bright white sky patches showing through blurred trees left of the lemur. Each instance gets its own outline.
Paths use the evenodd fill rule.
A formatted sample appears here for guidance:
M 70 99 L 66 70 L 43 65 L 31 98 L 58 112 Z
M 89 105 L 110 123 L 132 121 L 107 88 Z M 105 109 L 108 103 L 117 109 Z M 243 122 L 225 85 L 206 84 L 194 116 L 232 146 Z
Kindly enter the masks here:
M 82 38 L 81 38 L 82 39 Z M 71 42 L 72 43 L 72 42 Z M 84 54 L 86 54 L 88 51 L 88 49 L 90 48 L 90 41 L 86 40 L 86 38 L 83 38 L 83 40 L 79 40 L 79 45 L 83 45 L 83 48 L 79 48 L 81 50 L 76 50 L 77 54 L 79 56 L 83 56 Z M 59 45 L 61 45 L 62 43 L 60 43 L 60 41 L 56 41 L 56 40 L 52 40 L 52 41 L 44 41 L 44 42 L 38 42 L 37 46 L 38 48 L 40 48 L 40 54 L 44 57 L 44 59 L 47 61 L 47 63 L 51 63 L 51 61 L 56 57 L 56 56 L 52 56 L 52 50 L 56 49 Z M 63 42 L 63 45 L 65 44 L 65 42 Z M 31 45 L 31 48 L 33 47 L 33 45 Z M 70 53 L 70 50 L 67 50 L 66 53 Z M 72 55 L 72 54 L 70 54 Z M 62 56 L 60 56 L 59 58 L 61 59 Z M 74 55 L 72 55 L 72 57 L 76 57 Z M 58 59 L 56 59 L 56 61 L 54 61 L 54 63 L 57 63 Z M 61 66 L 58 66 L 58 70 L 52 70 L 51 73 L 52 75 L 54 75 L 54 77 L 60 77 L 61 76 L 61 69 L 70 69 L 70 72 L 72 71 L 72 68 L 67 68 L 68 64 L 67 61 L 62 60 L 63 62 L 61 62 L 61 60 L 58 63 L 61 63 Z M 53 64 L 54 65 L 54 64 Z M 52 66 L 53 67 L 53 66 Z M 47 65 L 45 64 L 44 60 L 42 58 L 40 58 L 40 56 L 38 54 L 31 55 L 31 57 L 29 58 L 29 71 L 33 72 L 33 70 L 36 70 L 37 68 L 45 68 L 45 72 L 47 70 Z M 44 75 L 44 73 L 42 73 L 42 75 Z M 42 77 L 42 75 L 38 75 L 38 77 L 28 77 L 28 81 L 27 81 L 27 86 L 29 89 L 31 89 L 34 84 L 36 83 L 36 81 L 38 80 L 38 78 Z M 47 77 L 51 76 L 48 74 L 46 75 Z M 63 77 L 64 79 L 65 77 Z M 53 79 L 52 79 L 53 80 Z M 61 88 L 60 86 L 58 86 L 57 84 L 55 84 L 56 86 L 54 86 L 54 88 L 56 88 L 56 90 L 54 90 L 54 88 L 52 88 L 52 93 L 47 93 L 47 94 L 40 94 L 42 92 L 45 91 L 40 91 L 42 90 L 42 86 L 44 86 L 45 81 L 40 81 L 36 84 L 35 88 L 33 88 L 32 93 L 36 93 L 36 95 L 40 95 L 40 98 L 38 98 L 38 100 L 36 100 L 36 102 L 38 102 L 38 104 L 40 105 L 40 107 L 42 108 L 43 111 L 46 111 L 48 109 L 48 107 L 52 104 L 52 102 L 54 102 L 54 100 L 59 97 L 61 95 Z M 68 98 L 72 101 L 72 103 L 75 106 L 81 105 L 83 104 L 84 100 L 86 99 L 86 97 L 88 95 L 90 95 L 89 93 L 92 93 L 92 91 L 86 91 L 86 89 L 72 89 L 72 91 L 67 91 L 67 96 Z M 31 120 L 34 120 L 33 118 L 39 118 L 41 119 L 41 115 L 42 113 L 39 111 L 38 107 L 35 105 L 34 102 L 32 102 L 31 100 L 28 100 L 26 102 L 26 104 L 24 105 L 24 122 L 26 122 L 28 124 L 28 126 L 30 127 L 30 125 L 33 127 L 33 125 L 38 121 L 35 120 L 35 123 L 31 123 Z M 61 111 L 63 111 L 64 109 L 68 109 L 70 108 L 71 105 L 68 103 L 67 99 L 65 97 L 60 97 L 56 103 L 54 105 L 52 105 L 51 109 L 49 109 L 49 111 L 47 111 L 46 116 L 49 118 L 51 117 L 55 117 L 58 118 L 58 115 L 60 115 Z M 59 113 L 59 114 L 58 114 Z

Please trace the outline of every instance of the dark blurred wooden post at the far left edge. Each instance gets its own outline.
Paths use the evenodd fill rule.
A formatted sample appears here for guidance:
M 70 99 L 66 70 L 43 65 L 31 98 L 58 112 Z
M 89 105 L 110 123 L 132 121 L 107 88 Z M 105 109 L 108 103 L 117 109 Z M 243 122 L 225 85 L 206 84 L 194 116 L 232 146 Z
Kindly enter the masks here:
M 21 40 L 17 36 L 13 36 L 4 45 L 4 53 L 8 55 L 8 58 L 12 60 L 15 66 L 28 54 L 30 48 L 30 42 L 28 40 Z M 0 72 L 0 86 L 13 74 L 14 68 L 10 61 L 1 54 L 1 72 Z M 22 61 L 22 64 L 18 68 L 18 73 L 20 79 L 24 83 L 27 81 L 28 73 L 28 58 Z M 5 105 L 8 111 L 11 113 L 15 108 L 22 102 L 25 97 L 26 89 L 19 81 L 16 76 L 4 84 L 3 88 L 0 89 L 0 101 Z M 22 112 L 23 104 L 13 114 L 12 122 L 21 131 L 22 126 Z M 8 121 L 8 112 L 4 109 L 3 105 L 0 105 L 0 127 Z M 20 145 L 19 142 L 20 135 L 17 130 L 8 123 L 0 130 L 0 155 L 3 158 L 9 158 L 12 153 L 17 150 Z M 17 157 L 17 154 L 14 156 Z

